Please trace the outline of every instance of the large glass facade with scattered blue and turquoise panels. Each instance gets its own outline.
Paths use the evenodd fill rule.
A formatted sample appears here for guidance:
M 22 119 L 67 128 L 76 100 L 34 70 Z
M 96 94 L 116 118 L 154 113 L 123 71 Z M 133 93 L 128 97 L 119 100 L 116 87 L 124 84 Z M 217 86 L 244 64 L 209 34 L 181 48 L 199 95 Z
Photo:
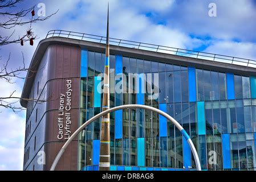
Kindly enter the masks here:
M 80 124 L 101 111 L 104 56 L 82 50 Z M 168 113 L 192 138 L 202 169 L 256 169 L 255 77 L 122 55 L 111 55 L 109 66 L 111 107 L 142 104 Z M 110 130 L 111 170 L 196 168 L 186 139 L 159 114 L 115 111 Z M 79 169 L 98 169 L 99 139 L 100 119 L 80 134 Z

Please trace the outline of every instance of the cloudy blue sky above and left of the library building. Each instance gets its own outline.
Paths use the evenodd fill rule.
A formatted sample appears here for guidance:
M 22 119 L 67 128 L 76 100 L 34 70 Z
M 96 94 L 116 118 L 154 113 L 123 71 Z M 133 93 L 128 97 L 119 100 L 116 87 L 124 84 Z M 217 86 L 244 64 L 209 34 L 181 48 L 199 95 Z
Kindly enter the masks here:
M 22 65 L 22 52 L 28 66 L 40 40 L 49 30 L 67 30 L 105 36 L 107 0 L 24 0 L 13 11 L 38 3 L 46 5 L 50 19 L 32 24 L 38 39 L 34 46 L 25 43 L 0 47 L 3 65 L 11 53 L 9 69 Z M 209 16 L 209 4 L 216 4 L 216 16 Z M 0 10 L 1 12 L 1 10 Z M 8 18 L 8 17 L 5 17 Z M 30 16 L 25 17 L 30 18 Z M 255 0 L 109 0 L 109 36 L 195 51 L 204 51 L 256 60 Z M 2 20 L 0 20 L 1 22 Z M 14 38 L 28 26 L 15 27 Z M 0 35 L 11 30 L 0 28 Z M 8 84 L 0 79 L 1 96 L 21 97 L 24 81 Z M 26 113 L 0 107 L 0 170 L 22 170 Z

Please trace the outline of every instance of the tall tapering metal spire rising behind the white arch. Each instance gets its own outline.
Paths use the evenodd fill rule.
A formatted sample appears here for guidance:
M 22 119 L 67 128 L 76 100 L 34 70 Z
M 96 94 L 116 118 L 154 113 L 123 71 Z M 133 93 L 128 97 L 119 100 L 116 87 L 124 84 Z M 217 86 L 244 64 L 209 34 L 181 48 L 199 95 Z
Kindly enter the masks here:
M 108 5 L 109 11 L 109 5 Z M 109 109 L 109 36 L 108 36 L 108 19 L 107 19 L 107 39 L 105 50 L 105 71 L 104 71 L 104 88 L 103 88 L 103 105 L 102 111 Z M 100 161 L 99 170 L 110 170 L 110 131 L 109 131 L 110 115 L 109 113 L 101 118 L 101 134 L 100 134 Z

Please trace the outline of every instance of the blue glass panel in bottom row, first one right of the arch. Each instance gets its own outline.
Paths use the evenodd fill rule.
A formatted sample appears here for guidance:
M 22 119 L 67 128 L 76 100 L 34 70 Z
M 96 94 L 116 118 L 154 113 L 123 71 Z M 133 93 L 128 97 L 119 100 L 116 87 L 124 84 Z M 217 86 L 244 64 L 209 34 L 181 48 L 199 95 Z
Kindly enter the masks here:
M 231 168 L 230 160 L 230 140 L 229 134 L 222 134 L 222 153 L 223 153 L 223 167 L 224 169 Z

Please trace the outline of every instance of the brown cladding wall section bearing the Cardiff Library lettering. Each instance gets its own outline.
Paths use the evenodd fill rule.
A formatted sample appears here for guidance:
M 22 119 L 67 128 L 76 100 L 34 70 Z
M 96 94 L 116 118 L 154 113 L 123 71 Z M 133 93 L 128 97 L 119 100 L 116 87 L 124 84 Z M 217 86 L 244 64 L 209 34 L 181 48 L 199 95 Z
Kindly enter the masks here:
M 47 83 L 48 101 L 47 122 L 46 122 L 46 166 L 48 170 L 53 160 L 58 154 L 60 148 L 64 144 L 64 139 L 59 140 L 58 136 L 58 117 L 59 117 L 59 98 L 60 93 L 67 92 L 67 78 L 72 80 L 72 96 L 71 96 L 71 134 L 79 126 L 79 95 L 80 95 L 80 48 L 54 45 L 51 46 L 51 73 L 50 80 Z M 64 77 L 64 78 L 63 78 Z M 65 78 L 66 77 L 66 78 Z M 64 98 L 66 104 L 66 98 Z M 65 123 L 65 122 L 64 122 Z M 67 139 L 66 139 L 67 140 Z M 77 140 L 77 137 L 75 138 Z M 71 142 L 62 158 L 59 160 L 56 170 L 77 170 L 78 169 L 78 142 Z

